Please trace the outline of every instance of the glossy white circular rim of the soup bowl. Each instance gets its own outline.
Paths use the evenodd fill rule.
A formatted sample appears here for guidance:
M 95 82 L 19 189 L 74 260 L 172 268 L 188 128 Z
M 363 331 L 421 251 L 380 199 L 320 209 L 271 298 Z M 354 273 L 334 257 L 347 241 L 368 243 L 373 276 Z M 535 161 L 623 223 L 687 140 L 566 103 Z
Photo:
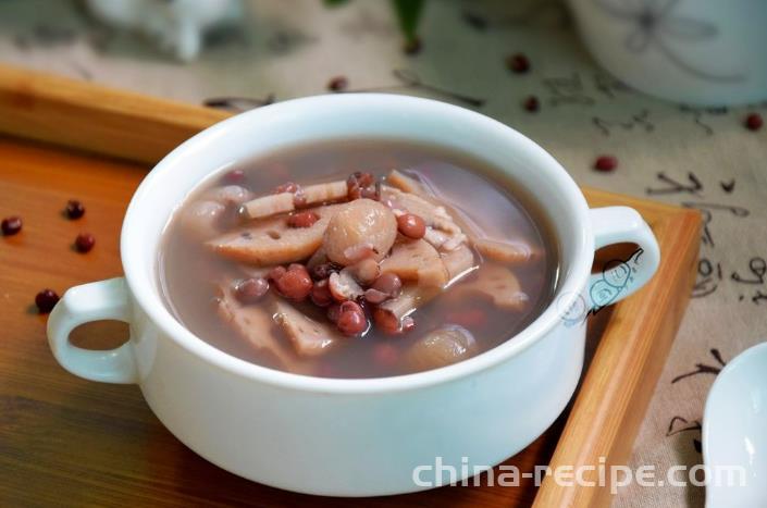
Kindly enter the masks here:
M 500 345 L 475 357 L 429 371 L 370 379 L 318 377 L 258 365 L 210 345 L 184 327 L 162 303 L 161 297 L 152 288 L 153 284 L 149 281 L 150 277 L 146 271 L 139 270 L 140 260 L 131 248 L 134 238 L 141 238 L 141 228 L 140 224 L 136 223 L 136 216 L 138 210 L 147 206 L 144 202 L 144 197 L 154 185 L 158 175 L 161 172 L 183 169 L 176 162 L 187 151 L 211 138 L 221 136 L 226 131 L 247 128 L 252 123 L 269 122 L 269 119 L 274 115 L 288 114 L 293 117 L 300 117 L 301 110 L 307 108 L 323 108 L 327 110 L 329 114 L 334 114 L 337 107 L 345 106 L 359 108 L 364 114 L 370 114 L 367 106 L 371 102 L 376 102 L 380 107 L 404 109 L 408 114 L 421 112 L 449 116 L 451 121 L 468 122 L 477 127 L 494 131 L 496 136 L 504 136 L 510 145 L 515 145 L 515 149 L 523 148 L 532 152 L 540 162 L 536 169 L 545 168 L 552 172 L 553 178 L 561 186 L 570 200 L 569 208 L 573 213 L 573 221 L 581 224 L 581 227 L 577 233 L 573 260 L 570 263 L 571 269 L 561 274 L 557 292 L 548 306 L 527 327 Z M 543 203 L 540 205 L 545 208 Z M 559 162 L 527 136 L 488 116 L 446 102 L 403 95 L 371 92 L 321 95 L 277 102 L 237 114 L 206 128 L 176 147 L 154 165 L 134 193 L 123 221 L 120 252 L 125 280 L 134 303 L 138 305 L 147 319 L 161 331 L 160 335 L 166 335 L 176 345 L 207 363 L 255 382 L 283 388 L 324 394 L 393 393 L 448 383 L 491 369 L 518 356 L 546 336 L 558 324 L 561 324 L 561 312 L 558 309 L 569 308 L 579 298 L 591 272 L 594 240 L 587 211 L 589 207 L 583 194 Z M 157 260 L 157 249 L 154 249 L 154 260 Z M 154 273 L 154 270 L 150 272 Z M 136 315 L 135 312 L 134 315 Z

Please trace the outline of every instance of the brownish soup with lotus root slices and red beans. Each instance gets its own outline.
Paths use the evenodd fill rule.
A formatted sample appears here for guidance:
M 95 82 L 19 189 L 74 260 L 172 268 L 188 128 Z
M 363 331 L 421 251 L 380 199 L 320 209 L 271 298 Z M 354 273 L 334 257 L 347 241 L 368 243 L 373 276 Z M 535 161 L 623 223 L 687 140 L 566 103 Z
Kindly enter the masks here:
M 557 282 L 546 221 L 494 174 L 404 140 L 222 169 L 166 226 L 164 301 L 217 348 L 300 374 L 391 376 L 477 356 L 512 340 Z

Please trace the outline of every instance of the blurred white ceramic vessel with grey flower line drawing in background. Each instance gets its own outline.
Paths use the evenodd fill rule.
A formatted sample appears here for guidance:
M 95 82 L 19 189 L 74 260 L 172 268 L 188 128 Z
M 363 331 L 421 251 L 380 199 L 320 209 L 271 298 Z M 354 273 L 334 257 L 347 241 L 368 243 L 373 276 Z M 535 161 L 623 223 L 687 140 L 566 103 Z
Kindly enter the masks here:
M 763 0 L 568 0 L 597 62 L 628 85 L 683 104 L 767 99 Z

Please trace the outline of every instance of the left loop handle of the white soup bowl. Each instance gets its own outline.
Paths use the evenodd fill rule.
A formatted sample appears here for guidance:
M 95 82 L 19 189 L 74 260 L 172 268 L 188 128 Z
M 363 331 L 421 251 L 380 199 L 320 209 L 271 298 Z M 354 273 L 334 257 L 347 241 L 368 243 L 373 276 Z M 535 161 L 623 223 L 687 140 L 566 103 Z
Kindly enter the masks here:
M 83 284 L 69 289 L 48 318 L 48 344 L 57 361 L 71 373 L 104 383 L 136 383 L 137 370 L 131 340 L 115 349 L 94 351 L 73 346 L 76 326 L 99 320 L 129 322 L 125 278 Z

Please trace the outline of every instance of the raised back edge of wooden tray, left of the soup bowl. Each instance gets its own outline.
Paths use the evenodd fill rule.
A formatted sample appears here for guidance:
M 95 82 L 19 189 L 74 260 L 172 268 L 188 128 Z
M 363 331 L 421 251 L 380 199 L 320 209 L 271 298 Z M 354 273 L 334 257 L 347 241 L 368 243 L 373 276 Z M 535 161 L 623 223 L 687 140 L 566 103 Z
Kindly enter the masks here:
M 0 65 L 0 133 L 38 141 L 156 163 L 228 116 L 211 108 Z

